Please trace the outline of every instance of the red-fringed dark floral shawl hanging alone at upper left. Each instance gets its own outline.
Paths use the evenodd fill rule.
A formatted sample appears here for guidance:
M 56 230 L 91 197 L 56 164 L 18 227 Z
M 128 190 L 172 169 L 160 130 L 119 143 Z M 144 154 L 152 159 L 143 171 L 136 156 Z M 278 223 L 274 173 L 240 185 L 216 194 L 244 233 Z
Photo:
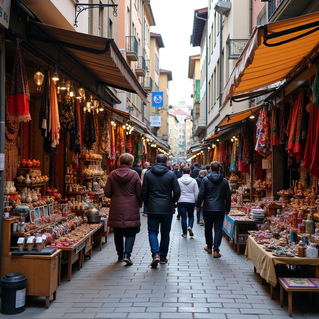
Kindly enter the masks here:
M 30 121 L 29 101 L 28 79 L 18 43 L 10 85 L 9 120 L 17 122 Z

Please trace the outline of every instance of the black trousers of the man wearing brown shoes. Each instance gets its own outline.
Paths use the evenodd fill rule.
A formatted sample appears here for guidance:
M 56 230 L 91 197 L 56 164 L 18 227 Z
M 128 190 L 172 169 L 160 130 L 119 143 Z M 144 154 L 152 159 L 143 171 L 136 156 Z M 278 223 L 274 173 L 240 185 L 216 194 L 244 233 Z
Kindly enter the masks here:
M 219 252 L 225 211 L 203 211 L 205 221 L 205 239 L 208 249 Z M 214 240 L 213 240 L 214 228 Z

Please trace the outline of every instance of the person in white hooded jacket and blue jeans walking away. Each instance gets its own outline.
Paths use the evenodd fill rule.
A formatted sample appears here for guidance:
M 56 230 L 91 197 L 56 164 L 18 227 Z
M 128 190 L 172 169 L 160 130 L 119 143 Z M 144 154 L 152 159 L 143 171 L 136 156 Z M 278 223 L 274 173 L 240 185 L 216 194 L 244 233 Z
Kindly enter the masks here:
M 178 184 L 181 188 L 181 197 L 178 200 L 177 207 L 182 217 L 182 237 L 187 238 L 187 231 L 189 232 L 189 236 L 194 236 L 194 210 L 198 196 L 198 185 L 196 180 L 190 176 L 190 167 L 185 166 L 182 174 L 182 177 L 178 179 Z

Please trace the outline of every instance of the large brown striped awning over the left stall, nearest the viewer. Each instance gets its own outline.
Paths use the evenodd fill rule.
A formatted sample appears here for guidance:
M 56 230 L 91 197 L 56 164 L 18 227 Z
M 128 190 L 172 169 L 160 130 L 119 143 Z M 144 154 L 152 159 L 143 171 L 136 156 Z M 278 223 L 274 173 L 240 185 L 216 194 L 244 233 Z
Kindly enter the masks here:
M 130 66 L 125 61 L 113 39 L 48 26 L 30 21 L 42 35 L 30 34 L 30 38 L 61 46 L 100 84 L 137 93 L 144 104 L 147 95 Z

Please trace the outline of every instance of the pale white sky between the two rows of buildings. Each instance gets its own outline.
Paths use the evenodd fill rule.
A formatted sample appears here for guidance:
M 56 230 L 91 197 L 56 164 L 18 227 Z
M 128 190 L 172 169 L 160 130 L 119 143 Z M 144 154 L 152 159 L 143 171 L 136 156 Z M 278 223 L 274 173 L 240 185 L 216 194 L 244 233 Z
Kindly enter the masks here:
M 193 105 L 193 80 L 188 78 L 189 56 L 199 54 L 200 47 L 190 46 L 194 10 L 207 7 L 207 0 L 151 0 L 155 26 L 151 32 L 162 35 L 165 48 L 159 49 L 159 66 L 171 70 L 169 82 L 170 105 L 178 104 L 181 97 Z

